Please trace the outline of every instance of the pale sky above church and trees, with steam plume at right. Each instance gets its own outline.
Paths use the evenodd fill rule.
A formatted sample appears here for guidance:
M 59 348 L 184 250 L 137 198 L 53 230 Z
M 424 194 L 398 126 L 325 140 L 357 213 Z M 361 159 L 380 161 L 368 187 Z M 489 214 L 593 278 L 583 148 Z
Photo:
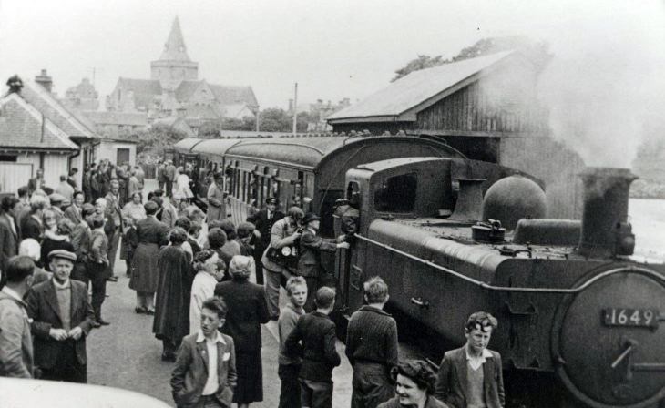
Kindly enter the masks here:
M 628 165 L 664 117 L 665 0 L 0 0 L 0 78 L 46 68 L 64 96 L 94 71 L 104 107 L 119 76 L 149 78 L 176 16 L 200 78 L 250 85 L 261 108 L 295 82 L 299 106 L 353 103 L 419 54 L 523 35 L 550 45 L 539 97 L 588 163 Z

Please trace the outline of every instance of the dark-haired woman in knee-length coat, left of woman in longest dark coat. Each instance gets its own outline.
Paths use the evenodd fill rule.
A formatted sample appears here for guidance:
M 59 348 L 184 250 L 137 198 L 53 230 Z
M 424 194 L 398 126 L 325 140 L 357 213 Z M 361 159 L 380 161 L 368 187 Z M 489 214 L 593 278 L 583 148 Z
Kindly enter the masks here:
M 169 229 L 155 218 L 159 206 L 154 201 L 143 205 L 146 218 L 137 222 L 138 246 L 132 255 L 129 289 L 137 291 L 137 313 L 154 314 L 153 296 L 157 291 L 159 246 L 168 243 Z

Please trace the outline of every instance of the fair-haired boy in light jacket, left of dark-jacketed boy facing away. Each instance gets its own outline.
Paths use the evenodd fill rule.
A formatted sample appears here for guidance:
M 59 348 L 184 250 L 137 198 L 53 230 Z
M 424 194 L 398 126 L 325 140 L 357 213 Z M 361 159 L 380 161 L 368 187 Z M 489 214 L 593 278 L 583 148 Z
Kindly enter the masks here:
M 240 229 L 239 229 L 240 230 Z M 281 308 L 277 326 L 280 331 L 280 356 L 277 375 L 281 380 L 280 408 L 300 408 L 301 392 L 298 374 L 302 359 L 289 356 L 286 352 L 286 339 L 295 328 L 298 319 L 305 314 L 302 307 L 307 301 L 307 282 L 301 276 L 292 276 L 286 281 L 289 302 Z

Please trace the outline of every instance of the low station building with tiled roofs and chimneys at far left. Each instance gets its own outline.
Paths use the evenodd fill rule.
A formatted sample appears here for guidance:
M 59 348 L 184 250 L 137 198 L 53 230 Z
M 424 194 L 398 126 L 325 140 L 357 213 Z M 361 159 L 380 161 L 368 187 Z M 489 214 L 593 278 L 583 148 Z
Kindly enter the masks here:
M 36 81 L 10 78 L 0 98 L 0 190 L 15 192 L 44 169 L 47 186 L 56 187 L 69 168 L 95 159 L 97 136 L 51 94 L 46 70 Z

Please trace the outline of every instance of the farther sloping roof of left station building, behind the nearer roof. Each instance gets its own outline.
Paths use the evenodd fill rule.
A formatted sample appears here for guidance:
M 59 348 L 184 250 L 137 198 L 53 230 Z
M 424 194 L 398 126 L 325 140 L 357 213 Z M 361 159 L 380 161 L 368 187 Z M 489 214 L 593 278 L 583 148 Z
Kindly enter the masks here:
M 88 128 L 72 112 L 67 110 L 49 92 L 32 80 L 24 81 L 21 97 L 41 114 L 61 128 L 69 137 L 95 138 L 95 130 Z

